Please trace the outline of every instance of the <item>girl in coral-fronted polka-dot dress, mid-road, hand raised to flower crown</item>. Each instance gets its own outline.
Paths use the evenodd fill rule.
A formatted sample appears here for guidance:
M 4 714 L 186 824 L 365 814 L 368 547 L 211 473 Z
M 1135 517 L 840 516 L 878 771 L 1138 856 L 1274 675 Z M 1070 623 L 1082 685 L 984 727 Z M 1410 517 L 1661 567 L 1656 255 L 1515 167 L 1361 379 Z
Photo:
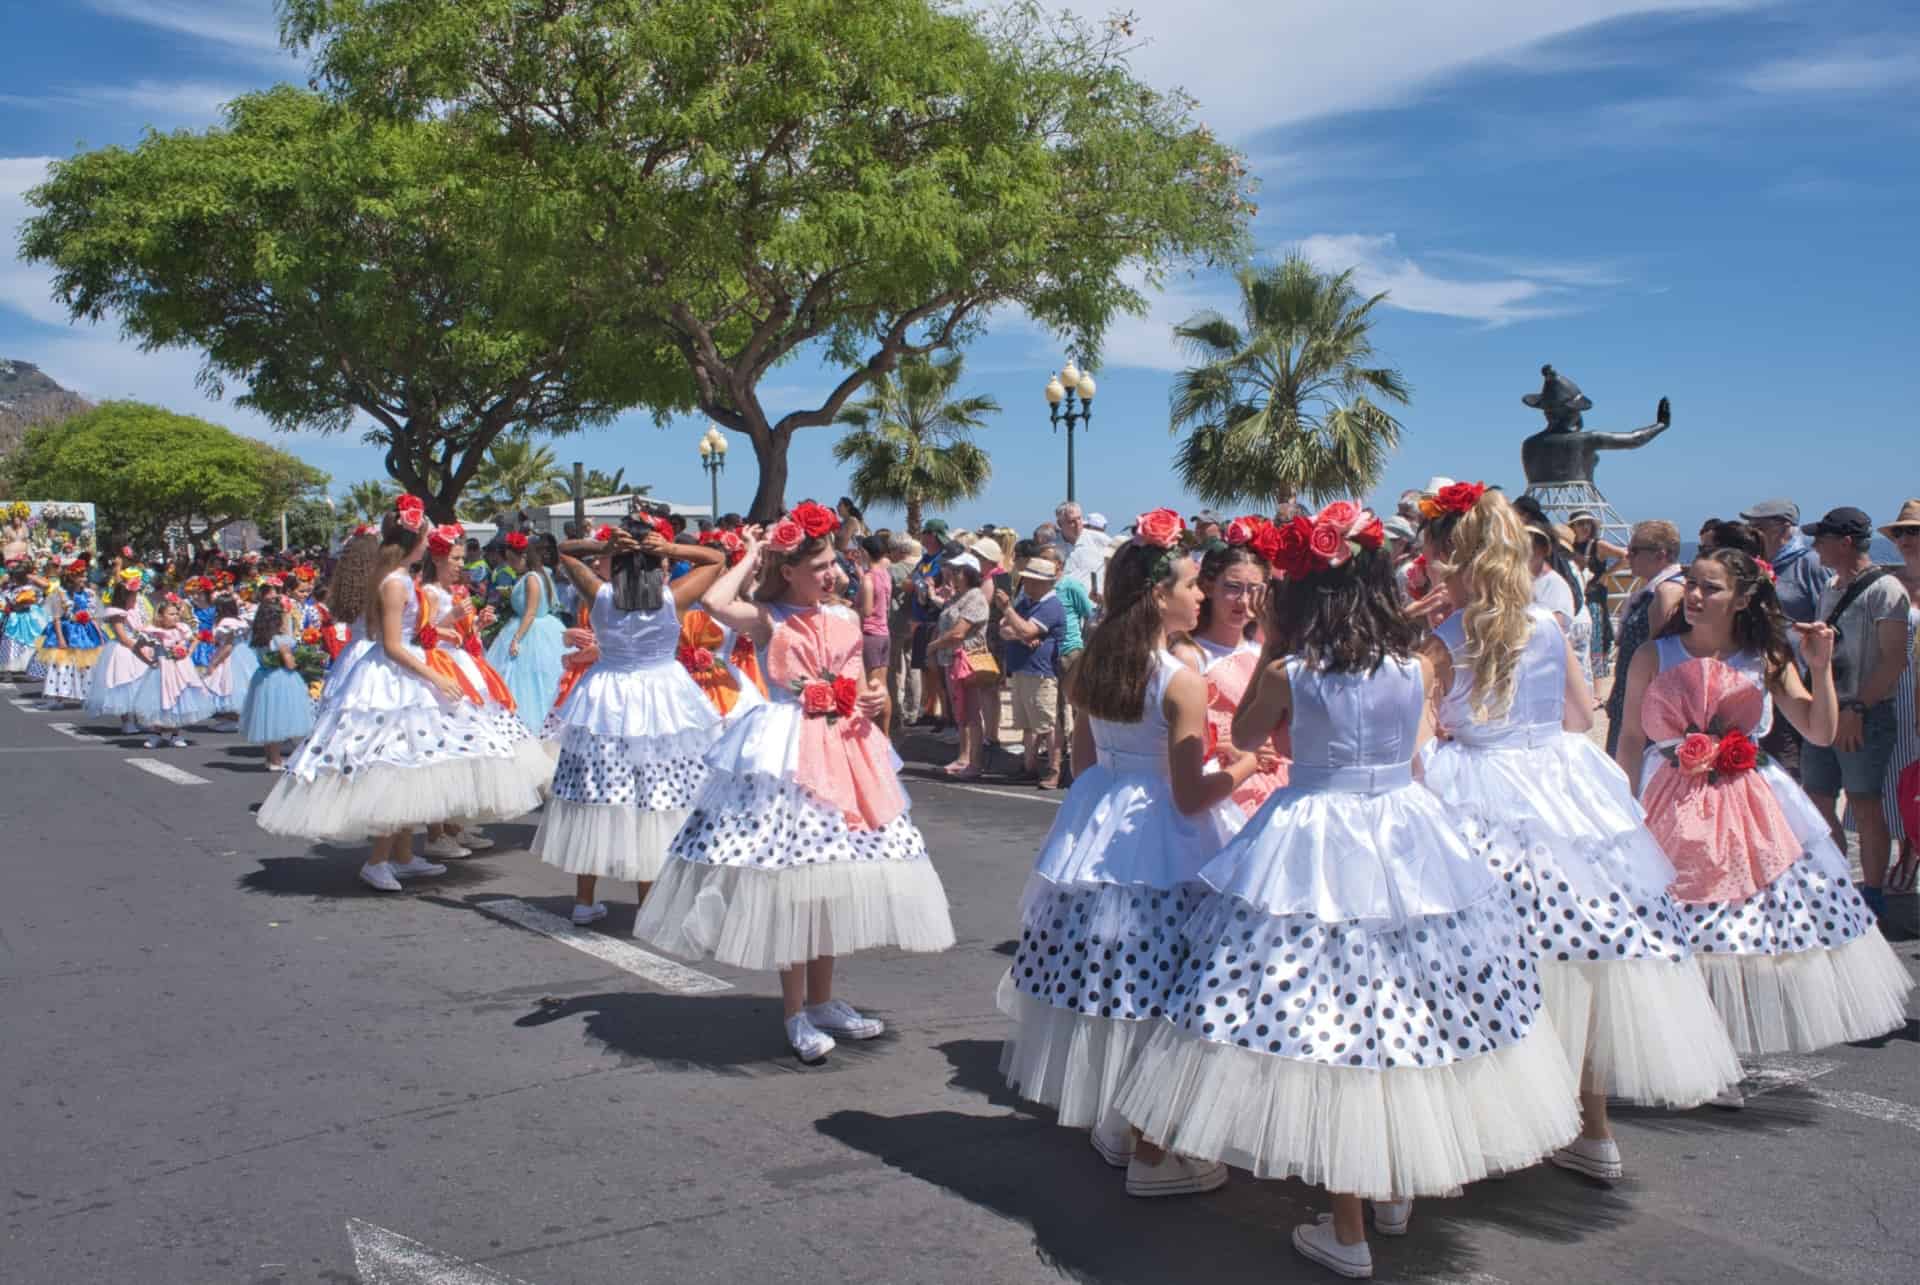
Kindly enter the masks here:
M 804 1062 L 833 1037 L 881 1033 L 833 997 L 837 955 L 954 941 L 874 724 L 885 691 L 864 684 L 860 620 L 831 601 L 837 524 L 831 509 L 799 505 L 766 546 L 749 536 L 747 557 L 707 594 L 707 611 L 764 651 L 770 699 L 730 718 L 707 755 L 710 778 L 634 926 L 676 955 L 778 970 L 787 1043 Z

